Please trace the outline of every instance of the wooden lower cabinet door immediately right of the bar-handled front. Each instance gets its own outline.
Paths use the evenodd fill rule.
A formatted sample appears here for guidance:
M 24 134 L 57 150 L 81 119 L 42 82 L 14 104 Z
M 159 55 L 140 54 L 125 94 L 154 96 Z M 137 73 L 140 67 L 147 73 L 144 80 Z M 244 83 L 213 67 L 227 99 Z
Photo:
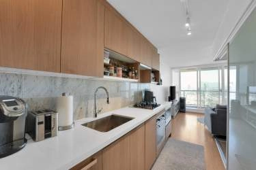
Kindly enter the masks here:
M 105 148 L 103 170 L 130 170 L 130 137 L 125 136 Z

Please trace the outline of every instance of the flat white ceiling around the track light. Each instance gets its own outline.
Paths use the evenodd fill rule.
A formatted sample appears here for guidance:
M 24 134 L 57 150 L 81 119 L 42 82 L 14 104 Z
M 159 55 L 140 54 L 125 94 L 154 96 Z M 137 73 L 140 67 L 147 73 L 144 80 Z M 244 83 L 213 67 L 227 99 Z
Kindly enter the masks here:
M 230 0 L 188 0 L 192 35 L 180 0 L 108 0 L 158 48 L 170 67 L 212 63 L 212 44 Z M 248 0 L 246 0 L 248 1 Z M 232 2 L 232 1 L 231 1 Z

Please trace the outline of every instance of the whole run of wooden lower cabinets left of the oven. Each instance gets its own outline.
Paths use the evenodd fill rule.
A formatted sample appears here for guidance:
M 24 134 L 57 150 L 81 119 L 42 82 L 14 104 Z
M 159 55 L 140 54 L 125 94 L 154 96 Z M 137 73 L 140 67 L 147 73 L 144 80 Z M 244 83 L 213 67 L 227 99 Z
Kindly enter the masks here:
M 72 170 L 148 170 L 156 160 L 156 117 L 141 124 Z

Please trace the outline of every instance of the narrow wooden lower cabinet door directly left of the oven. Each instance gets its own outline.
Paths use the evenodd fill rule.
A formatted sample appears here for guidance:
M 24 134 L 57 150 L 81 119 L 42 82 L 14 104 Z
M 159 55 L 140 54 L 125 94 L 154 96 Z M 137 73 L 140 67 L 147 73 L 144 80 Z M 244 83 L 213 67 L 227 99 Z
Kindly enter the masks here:
M 151 169 L 156 160 L 156 116 L 145 122 L 145 169 Z

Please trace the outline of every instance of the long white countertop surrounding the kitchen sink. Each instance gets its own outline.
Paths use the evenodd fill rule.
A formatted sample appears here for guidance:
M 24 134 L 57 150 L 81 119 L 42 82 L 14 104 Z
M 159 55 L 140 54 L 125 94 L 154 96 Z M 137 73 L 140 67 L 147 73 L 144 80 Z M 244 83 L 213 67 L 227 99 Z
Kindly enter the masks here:
M 23 150 L 0 158 L 0 169 L 70 169 L 160 112 L 165 105 L 168 104 L 154 110 L 124 107 L 100 114 L 98 118 L 76 120 L 74 129 L 59 131 L 57 137 L 38 142 L 29 139 Z M 111 114 L 134 119 L 106 133 L 81 125 Z

